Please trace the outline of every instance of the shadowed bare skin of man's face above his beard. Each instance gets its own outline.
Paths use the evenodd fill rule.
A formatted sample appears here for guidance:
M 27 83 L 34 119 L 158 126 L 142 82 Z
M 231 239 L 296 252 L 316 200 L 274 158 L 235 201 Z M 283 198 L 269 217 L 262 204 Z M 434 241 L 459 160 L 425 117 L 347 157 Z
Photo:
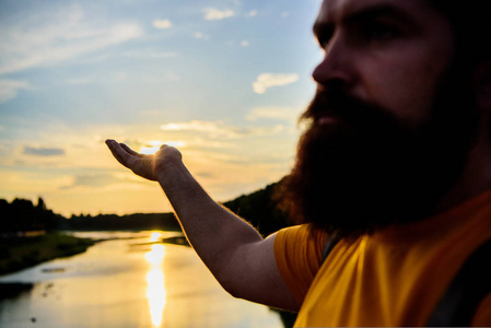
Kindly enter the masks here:
M 408 125 L 430 118 L 435 84 L 453 59 L 446 17 L 425 0 L 325 0 L 314 33 L 325 58 L 318 91 L 342 83 Z M 334 122 L 326 113 L 324 122 Z

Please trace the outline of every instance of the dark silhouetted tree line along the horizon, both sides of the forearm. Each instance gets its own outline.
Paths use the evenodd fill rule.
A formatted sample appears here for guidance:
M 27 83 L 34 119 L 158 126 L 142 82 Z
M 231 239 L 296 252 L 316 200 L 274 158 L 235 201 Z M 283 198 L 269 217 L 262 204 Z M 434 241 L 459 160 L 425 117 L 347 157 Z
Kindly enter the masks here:
M 264 236 L 290 225 L 287 215 L 278 209 L 274 191 L 279 183 L 249 195 L 223 202 L 232 212 L 250 222 Z M 180 230 L 174 213 L 80 214 L 69 219 L 47 209 L 38 198 L 31 200 L 15 198 L 12 202 L 0 199 L 0 233 L 52 230 Z

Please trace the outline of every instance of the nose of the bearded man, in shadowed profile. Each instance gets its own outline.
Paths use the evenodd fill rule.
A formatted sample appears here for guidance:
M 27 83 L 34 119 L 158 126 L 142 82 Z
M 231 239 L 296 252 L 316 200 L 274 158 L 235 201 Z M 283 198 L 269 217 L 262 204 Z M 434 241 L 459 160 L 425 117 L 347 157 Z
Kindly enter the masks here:
M 320 85 L 353 83 L 354 58 L 342 35 L 335 34 L 325 47 L 323 61 L 314 69 L 312 78 Z

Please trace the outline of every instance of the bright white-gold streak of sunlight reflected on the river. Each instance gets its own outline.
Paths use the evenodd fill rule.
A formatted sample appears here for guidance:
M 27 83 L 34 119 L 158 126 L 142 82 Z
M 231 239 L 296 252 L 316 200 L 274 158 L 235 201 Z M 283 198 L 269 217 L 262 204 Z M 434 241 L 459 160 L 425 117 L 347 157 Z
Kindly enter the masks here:
M 152 233 L 150 242 L 159 241 L 160 233 Z M 153 327 L 160 327 L 162 324 L 162 316 L 166 303 L 166 292 L 164 286 L 164 271 L 162 270 L 162 262 L 165 256 L 165 246 L 161 244 L 153 244 L 151 250 L 145 254 L 145 259 L 151 265 L 147 273 L 147 298 L 149 300 L 150 317 Z

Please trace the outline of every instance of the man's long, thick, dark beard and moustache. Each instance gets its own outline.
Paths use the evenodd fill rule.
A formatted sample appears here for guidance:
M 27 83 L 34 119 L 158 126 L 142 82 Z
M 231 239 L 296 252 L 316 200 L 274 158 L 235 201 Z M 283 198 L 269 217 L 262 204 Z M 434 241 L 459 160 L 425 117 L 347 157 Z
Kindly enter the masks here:
M 461 176 L 477 134 L 478 110 L 461 79 L 448 70 L 430 119 L 418 126 L 340 87 L 317 93 L 303 115 L 308 128 L 295 166 L 282 184 L 292 219 L 356 236 L 434 214 Z M 326 112 L 338 124 L 316 124 Z

